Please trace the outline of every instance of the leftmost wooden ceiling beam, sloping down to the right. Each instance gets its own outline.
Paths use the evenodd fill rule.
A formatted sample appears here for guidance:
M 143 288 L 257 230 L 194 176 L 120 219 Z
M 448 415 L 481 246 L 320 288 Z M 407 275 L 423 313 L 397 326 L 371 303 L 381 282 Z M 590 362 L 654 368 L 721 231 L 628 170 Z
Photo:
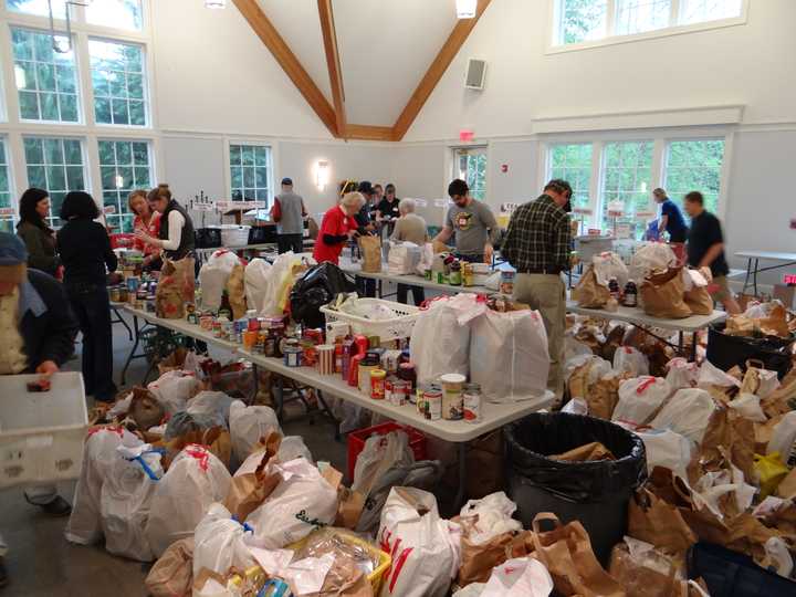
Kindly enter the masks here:
M 290 49 L 287 43 L 279 34 L 276 28 L 258 4 L 256 0 L 232 0 L 240 10 L 249 25 L 254 30 L 260 40 L 271 51 L 276 62 L 290 77 L 298 92 L 304 96 L 310 106 L 313 108 L 318 118 L 326 125 L 329 133 L 334 137 L 339 136 L 337 133 L 337 116 L 335 108 L 328 103 L 323 92 L 315 85 L 310 74 L 302 66 L 298 59 Z M 320 1 L 318 1 L 320 4 Z

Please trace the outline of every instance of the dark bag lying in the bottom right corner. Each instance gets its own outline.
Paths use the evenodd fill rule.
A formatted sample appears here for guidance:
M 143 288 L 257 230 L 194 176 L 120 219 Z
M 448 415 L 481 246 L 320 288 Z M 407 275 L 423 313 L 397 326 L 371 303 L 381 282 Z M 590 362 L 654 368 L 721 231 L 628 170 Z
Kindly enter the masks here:
M 688 553 L 689 578 L 702 578 L 712 597 L 796 596 L 796 583 L 766 570 L 754 559 L 711 543 L 696 543 Z

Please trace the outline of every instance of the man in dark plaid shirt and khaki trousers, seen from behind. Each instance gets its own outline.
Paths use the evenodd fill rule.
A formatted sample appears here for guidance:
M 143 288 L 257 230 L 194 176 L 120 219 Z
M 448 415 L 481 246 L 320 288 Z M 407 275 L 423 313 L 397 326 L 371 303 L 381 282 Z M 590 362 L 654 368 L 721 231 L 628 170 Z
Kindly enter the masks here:
M 547 182 L 541 197 L 514 210 L 501 247 L 517 272 L 514 298 L 542 314 L 551 359 L 547 388 L 556 401 L 564 392 L 566 290 L 561 274 L 569 269 L 572 227 L 564 208 L 570 198 L 566 180 Z

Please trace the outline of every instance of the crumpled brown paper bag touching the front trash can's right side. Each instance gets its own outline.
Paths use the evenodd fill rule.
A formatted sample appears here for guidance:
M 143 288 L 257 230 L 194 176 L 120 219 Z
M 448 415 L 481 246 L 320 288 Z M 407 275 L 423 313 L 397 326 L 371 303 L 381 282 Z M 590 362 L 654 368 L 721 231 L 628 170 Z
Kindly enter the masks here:
M 673 556 L 685 554 L 696 543 L 696 535 L 681 512 L 648 490 L 637 492 L 630 500 L 628 535 Z

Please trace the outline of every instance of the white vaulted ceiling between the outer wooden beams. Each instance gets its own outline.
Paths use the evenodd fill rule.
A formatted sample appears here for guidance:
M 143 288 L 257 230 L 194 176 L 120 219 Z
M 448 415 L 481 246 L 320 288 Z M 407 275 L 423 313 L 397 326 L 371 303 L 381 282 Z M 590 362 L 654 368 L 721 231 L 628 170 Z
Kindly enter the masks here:
M 332 102 L 317 0 L 258 1 Z M 333 0 L 333 9 L 346 117 L 389 126 L 455 25 L 455 1 Z

